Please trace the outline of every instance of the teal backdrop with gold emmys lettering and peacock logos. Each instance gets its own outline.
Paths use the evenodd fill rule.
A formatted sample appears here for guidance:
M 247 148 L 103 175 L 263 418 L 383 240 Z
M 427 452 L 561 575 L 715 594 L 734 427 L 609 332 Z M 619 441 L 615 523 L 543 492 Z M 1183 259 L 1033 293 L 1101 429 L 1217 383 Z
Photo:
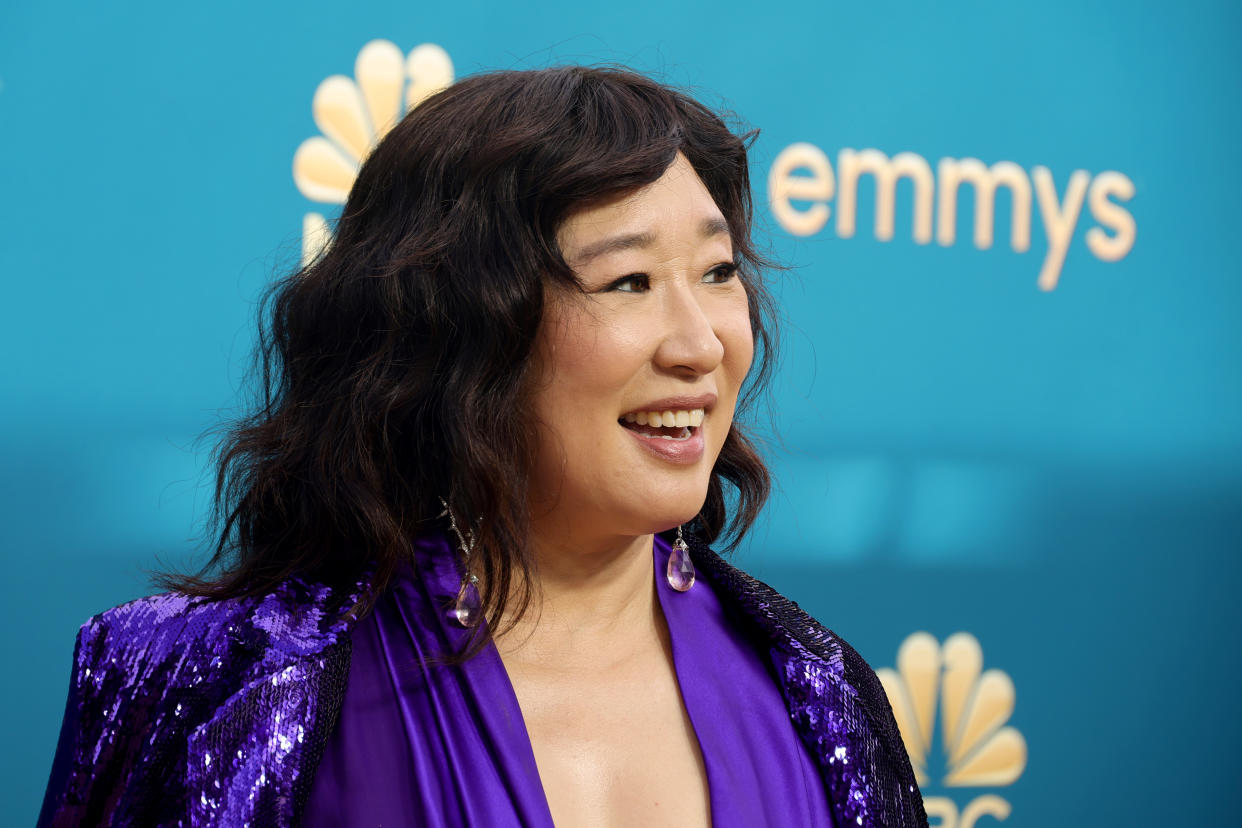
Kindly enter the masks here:
M 1227 2 L 10 4 L 4 822 L 78 624 L 199 560 L 256 302 L 386 125 L 620 62 L 758 127 L 777 488 L 735 560 L 877 669 L 933 826 L 1236 814 Z

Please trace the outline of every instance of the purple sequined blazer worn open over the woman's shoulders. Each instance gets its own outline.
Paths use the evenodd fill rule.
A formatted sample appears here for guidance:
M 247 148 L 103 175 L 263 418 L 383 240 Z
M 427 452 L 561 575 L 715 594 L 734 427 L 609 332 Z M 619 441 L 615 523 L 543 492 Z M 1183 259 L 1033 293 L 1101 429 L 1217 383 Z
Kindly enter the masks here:
M 837 827 L 925 827 L 867 663 L 705 545 L 691 551 L 727 610 L 768 643 Z M 169 593 L 83 624 L 39 824 L 298 824 L 349 675 L 353 617 L 328 613 L 342 603 L 332 597 L 301 581 L 251 600 Z

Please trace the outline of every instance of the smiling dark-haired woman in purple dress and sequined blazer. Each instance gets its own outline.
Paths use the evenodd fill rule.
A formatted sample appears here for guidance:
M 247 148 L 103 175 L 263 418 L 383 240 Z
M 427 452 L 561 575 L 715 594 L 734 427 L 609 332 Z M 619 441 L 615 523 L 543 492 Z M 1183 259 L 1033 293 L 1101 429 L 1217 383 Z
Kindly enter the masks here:
M 925 824 L 871 669 L 707 545 L 768 492 L 749 194 L 625 71 L 411 112 L 271 294 L 216 569 L 83 626 L 41 822 Z

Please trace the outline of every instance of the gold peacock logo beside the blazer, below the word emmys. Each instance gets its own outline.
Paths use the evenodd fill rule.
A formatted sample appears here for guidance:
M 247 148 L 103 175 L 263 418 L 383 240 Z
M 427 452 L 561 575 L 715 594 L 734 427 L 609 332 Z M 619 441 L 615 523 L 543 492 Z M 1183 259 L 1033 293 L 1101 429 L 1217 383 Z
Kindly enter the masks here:
M 984 650 L 970 633 L 954 633 L 944 644 L 917 632 L 897 650 L 897 669 L 876 670 L 919 787 L 1002 787 L 1026 768 L 1026 740 L 1006 722 L 1013 715 L 1013 682 L 1002 670 L 984 669 Z M 932 751 L 940 711 L 939 755 Z M 933 761 L 936 762 L 933 766 Z M 924 797 L 932 828 L 974 828 L 981 817 L 1007 819 L 1010 803 L 995 793 L 977 796 L 959 808 L 955 798 Z

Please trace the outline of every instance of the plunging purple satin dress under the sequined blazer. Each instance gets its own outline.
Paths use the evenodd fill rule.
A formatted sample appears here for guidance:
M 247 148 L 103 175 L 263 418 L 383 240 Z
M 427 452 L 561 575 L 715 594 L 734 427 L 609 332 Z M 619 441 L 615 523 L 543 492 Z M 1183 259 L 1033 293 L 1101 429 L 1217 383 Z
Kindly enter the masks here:
M 705 578 L 677 592 L 656 538 L 657 595 L 673 664 L 707 768 L 717 828 L 832 826 L 823 783 L 755 644 L 725 617 Z M 553 828 L 517 695 L 493 646 L 462 665 L 460 583 L 441 538 L 416 547 L 353 632 L 344 705 L 315 772 L 304 824 Z

